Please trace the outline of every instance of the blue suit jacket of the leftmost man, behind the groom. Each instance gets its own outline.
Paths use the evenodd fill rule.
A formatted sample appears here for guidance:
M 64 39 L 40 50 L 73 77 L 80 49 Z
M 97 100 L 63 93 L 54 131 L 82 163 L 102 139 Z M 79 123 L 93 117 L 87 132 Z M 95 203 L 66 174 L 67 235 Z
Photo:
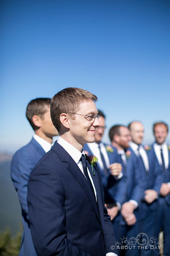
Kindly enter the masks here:
M 11 162 L 11 178 L 15 190 L 18 193 L 19 201 L 22 208 L 22 242 L 20 248 L 20 256 L 36 256 L 34 245 L 32 242 L 31 231 L 28 220 L 27 206 L 27 183 L 28 177 L 37 161 L 45 154 L 40 144 L 32 138 L 31 141 L 19 149 L 12 158 Z

